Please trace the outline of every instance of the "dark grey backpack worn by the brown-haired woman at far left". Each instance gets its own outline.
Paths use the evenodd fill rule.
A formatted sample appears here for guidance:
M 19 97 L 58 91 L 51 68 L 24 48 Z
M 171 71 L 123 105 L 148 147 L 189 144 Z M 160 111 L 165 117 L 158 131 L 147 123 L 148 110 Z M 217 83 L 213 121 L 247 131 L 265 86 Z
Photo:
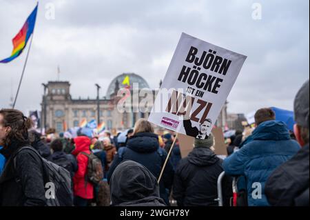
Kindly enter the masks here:
M 44 159 L 34 148 L 23 147 L 17 151 L 17 154 L 23 150 L 34 152 L 42 161 L 46 206 L 73 206 L 70 172 L 56 163 Z M 14 156 L 14 169 L 16 168 L 17 154 Z

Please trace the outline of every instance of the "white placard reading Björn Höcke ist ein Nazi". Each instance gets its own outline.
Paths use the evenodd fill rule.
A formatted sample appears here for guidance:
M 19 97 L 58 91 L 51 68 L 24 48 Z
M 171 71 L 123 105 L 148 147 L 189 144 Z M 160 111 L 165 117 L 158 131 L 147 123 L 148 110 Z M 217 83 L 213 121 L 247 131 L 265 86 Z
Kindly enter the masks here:
M 182 33 L 148 120 L 206 139 L 246 58 Z

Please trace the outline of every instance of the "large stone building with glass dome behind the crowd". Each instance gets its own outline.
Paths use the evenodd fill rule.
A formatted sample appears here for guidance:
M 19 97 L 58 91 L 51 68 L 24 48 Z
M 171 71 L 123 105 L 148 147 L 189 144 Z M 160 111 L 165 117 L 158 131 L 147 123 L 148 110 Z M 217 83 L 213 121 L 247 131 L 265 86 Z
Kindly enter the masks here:
M 121 74 L 112 80 L 112 83 L 107 89 L 105 97 L 99 99 L 100 121 L 105 121 L 107 130 L 115 128 L 123 130 L 132 128 L 134 123 L 140 119 L 149 116 L 149 112 L 119 112 L 117 103 L 120 97 L 117 97 L 117 91 L 125 76 L 130 76 L 130 86 L 132 83 L 138 83 L 139 88 L 147 87 L 146 81 L 137 74 Z M 113 85 L 112 85 L 113 84 Z M 46 85 L 47 91 L 43 96 L 41 103 L 41 121 L 44 126 L 44 115 L 46 114 L 45 128 L 56 128 L 56 132 L 63 132 L 66 124 L 67 128 L 77 127 L 82 119 L 91 121 L 97 120 L 97 99 L 72 99 L 70 94 L 70 83 L 68 81 L 49 81 Z M 112 91 L 114 90 L 114 92 Z M 132 90 L 131 90 L 132 94 Z M 156 90 L 152 90 L 152 95 L 155 98 Z M 153 98 L 153 100 L 154 100 Z M 45 103 L 46 101 L 46 103 Z M 133 104 L 133 108 L 137 107 L 138 103 Z M 46 112 L 45 112 L 46 106 Z M 224 128 L 227 118 L 226 103 L 223 110 L 220 112 L 217 126 Z M 152 106 L 148 106 L 151 110 Z

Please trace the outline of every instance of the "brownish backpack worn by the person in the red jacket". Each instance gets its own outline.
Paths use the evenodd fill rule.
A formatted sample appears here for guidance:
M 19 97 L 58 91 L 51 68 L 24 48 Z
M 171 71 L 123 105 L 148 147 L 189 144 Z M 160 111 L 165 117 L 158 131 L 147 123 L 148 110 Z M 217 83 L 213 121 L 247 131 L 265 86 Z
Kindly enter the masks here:
M 88 157 L 87 181 L 93 183 L 95 186 L 98 185 L 99 182 L 103 179 L 101 160 L 92 152 L 90 154 L 81 152 L 81 154 Z

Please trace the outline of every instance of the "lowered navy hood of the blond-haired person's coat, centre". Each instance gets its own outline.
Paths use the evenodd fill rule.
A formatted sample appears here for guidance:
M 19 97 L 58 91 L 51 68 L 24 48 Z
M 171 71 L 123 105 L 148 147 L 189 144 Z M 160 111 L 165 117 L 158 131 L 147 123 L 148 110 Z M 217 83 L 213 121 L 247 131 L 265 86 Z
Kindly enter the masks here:
M 158 136 L 153 133 L 141 132 L 132 136 L 127 141 L 127 147 L 135 152 L 149 153 L 158 149 Z

